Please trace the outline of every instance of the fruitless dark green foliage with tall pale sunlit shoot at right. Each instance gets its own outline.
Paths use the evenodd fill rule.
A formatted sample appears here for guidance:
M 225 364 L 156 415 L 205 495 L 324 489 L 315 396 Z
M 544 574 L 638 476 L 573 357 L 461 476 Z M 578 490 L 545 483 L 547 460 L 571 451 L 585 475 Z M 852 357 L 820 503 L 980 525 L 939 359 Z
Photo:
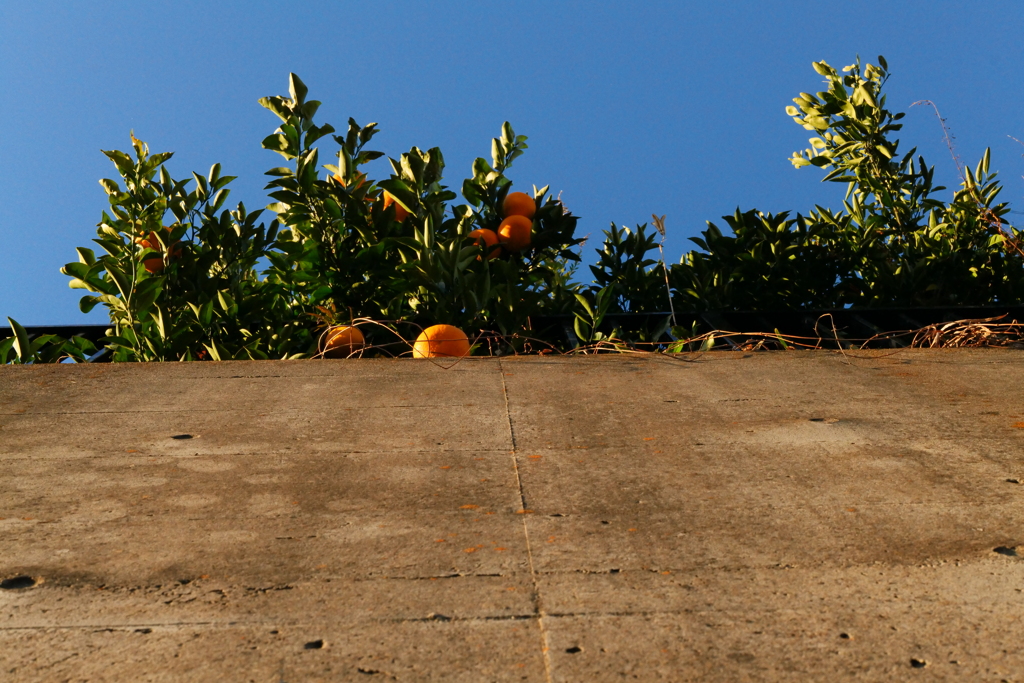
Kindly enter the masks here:
M 807 216 L 736 211 L 693 241 L 673 267 L 680 306 L 720 309 L 841 308 L 1016 303 L 1024 296 L 1021 232 L 1007 225 L 1001 189 L 986 151 L 964 169 L 952 202 L 935 195 L 934 169 L 893 133 L 901 113 L 886 109 L 888 66 L 856 63 L 837 72 L 814 63 L 826 89 L 801 93 L 786 109 L 817 135 L 794 154 L 797 168 L 827 171 L 847 183 L 843 209 Z

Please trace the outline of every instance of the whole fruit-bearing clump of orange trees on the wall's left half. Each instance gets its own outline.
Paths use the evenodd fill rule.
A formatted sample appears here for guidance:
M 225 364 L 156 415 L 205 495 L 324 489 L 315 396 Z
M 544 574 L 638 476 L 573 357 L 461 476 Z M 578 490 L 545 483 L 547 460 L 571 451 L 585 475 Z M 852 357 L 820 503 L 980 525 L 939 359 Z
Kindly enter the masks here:
M 61 271 L 89 292 L 83 311 L 108 309 L 112 359 L 301 357 L 316 351 L 317 322 L 348 317 L 514 335 L 526 332 L 530 315 L 571 309 L 582 240 L 577 218 L 546 187 L 535 188 L 527 248 L 481 258 L 470 236 L 502 221 L 505 172 L 525 136 L 506 123 L 492 162 L 477 159 L 463 183 L 468 203 L 452 205 L 439 150 L 414 147 L 389 160 L 389 177 L 372 180 L 360 167 L 383 156 L 366 148 L 376 124 L 349 120 L 345 135 L 333 134 L 313 122 L 319 102 L 306 98 L 302 81 L 293 74 L 289 85 L 289 96 L 260 100 L 281 119 L 263 146 L 289 162 L 267 172 L 276 214 L 269 224 L 242 204 L 222 208 L 233 178 L 219 164 L 175 180 L 165 166 L 172 155 L 151 155 L 134 135 L 133 154 L 104 153 L 119 178 L 100 181 L 110 211 L 93 242 L 102 253 L 79 248 L 79 260 Z M 322 168 L 315 143 L 328 135 L 339 150 Z M 12 326 L 18 334 L 0 342 L 3 362 L 81 360 L 94 350 L 84 340 L 30 341 Z M 392 341 L 381 329 L 368 332 Z

